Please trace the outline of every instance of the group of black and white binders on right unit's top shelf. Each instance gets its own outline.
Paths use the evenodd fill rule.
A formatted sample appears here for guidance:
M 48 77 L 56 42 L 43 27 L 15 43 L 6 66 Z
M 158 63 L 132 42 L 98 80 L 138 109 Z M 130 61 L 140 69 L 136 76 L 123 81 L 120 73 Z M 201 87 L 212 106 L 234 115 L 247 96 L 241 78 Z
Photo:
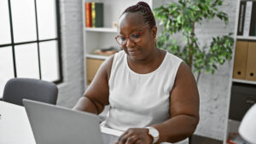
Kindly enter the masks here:
M 256 2 L 241 1 L 237 35 L 256 36 Z

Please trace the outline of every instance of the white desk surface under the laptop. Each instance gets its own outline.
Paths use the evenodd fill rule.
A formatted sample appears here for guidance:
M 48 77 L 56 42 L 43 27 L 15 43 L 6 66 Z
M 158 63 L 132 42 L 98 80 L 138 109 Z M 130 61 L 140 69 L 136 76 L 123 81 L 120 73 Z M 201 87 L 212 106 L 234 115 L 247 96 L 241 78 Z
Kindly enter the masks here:
M 36 144 L 25 107 L 0 101 L 0 144 Z M 113 143 L 122 132 L 101 128 L 103 141 Z

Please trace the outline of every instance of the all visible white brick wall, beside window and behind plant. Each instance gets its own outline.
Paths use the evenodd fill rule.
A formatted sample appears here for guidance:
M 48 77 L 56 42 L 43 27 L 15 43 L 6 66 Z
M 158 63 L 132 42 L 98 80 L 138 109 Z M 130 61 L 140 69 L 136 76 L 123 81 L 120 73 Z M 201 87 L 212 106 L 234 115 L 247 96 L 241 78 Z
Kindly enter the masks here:
M 61 0 L 61 38 L 62 65 L 64 83 L 59 84 L 58 105 L 73 107 L 84 92 L 82 5 L 81 0 Z M 204 22 L 196 26 L 196 33 L 201 43 L 207 38 L 234 31 L 236 1 L 224 0 L 221 8 L 230 15 L 230 24 L 224 26 L 220 20 Z M 230 81 L 230 63 L 219 68 L 214 76 L 203 74 L 199 82 L 201 98 L 201 121 L 195 131 L 203 135 L 222 140 L 225 127 L 226 101 Z

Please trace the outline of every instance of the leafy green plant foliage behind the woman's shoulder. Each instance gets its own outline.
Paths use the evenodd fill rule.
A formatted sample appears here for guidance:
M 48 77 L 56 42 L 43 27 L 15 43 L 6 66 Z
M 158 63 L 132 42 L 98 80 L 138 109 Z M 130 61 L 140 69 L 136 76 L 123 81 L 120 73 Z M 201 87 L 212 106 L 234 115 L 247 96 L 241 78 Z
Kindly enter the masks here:
M 200 46 L 196 37 L 195 25 L 201 25 L 202 20 L 218 18 L 228 24 L 228 15 L 218 10 L 222 0 L 178 0 L 154 9 L 156 19 L 160 20 L 163 30 L 158 35 L 157 47 L 166 49 L 181 57 L 195 73 L 199 81 L 201 72 L 214 72 L 226 60 L 231 60 L 234 39 L 231 33 L 212 37 L 210 44 Z M 183 43 L 177 43 L 172 37 L 182 33 Z

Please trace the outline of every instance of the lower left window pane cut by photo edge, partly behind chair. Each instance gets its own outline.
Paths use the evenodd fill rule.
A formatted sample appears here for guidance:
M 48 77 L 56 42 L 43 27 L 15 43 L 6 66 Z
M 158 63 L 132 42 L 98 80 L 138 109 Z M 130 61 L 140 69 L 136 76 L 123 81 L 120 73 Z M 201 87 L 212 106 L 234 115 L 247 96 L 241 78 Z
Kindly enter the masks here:
M 4 85 L 14 78 L 14 65 L 11 47 L 0 48 L 0 97 L 3 96 Z

